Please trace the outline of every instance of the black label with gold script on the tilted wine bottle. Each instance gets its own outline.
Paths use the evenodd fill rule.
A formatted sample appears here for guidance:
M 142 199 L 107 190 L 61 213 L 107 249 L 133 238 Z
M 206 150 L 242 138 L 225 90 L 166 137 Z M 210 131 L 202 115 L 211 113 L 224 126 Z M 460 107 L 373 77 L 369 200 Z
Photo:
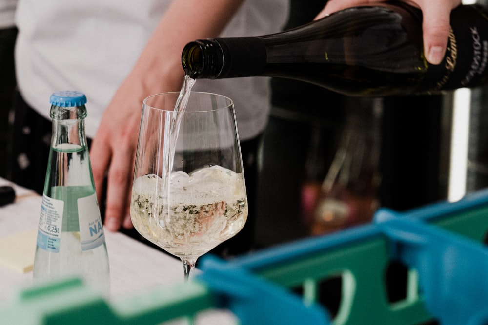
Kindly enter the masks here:
M 460 6 L 453 11 L 450 22 L 454 30 L 449 30 L 444 60 L 439 65 L 430 65 L 419 90 L 470 87 L 486 79 L 488 20 L 476 8 L 481 10 L 472 5 Z

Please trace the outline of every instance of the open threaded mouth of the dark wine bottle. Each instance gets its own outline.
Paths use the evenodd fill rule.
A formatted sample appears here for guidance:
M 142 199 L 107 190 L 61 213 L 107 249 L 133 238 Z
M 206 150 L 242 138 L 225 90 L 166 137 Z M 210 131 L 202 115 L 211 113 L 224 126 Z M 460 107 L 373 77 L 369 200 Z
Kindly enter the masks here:
M 197 39 L 183 48 L 182 65 L 185 74 L 193 79 L 216 78 L 222 70 L 222 48 L 213 38 Z

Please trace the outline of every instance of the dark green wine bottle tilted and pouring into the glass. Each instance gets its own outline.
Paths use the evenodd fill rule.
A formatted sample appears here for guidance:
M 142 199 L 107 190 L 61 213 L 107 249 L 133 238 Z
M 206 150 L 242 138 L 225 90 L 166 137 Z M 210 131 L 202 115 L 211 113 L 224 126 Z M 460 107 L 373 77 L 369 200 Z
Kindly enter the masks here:
M 285 77 L 350 96 L 439 93 L 487 80 L 487 17 L 480 5 L 454 9 L 439 65 L 424 57 L 421 11 L 400 1 L 348 8 L 272 35 L 195 40 L 182 64 L 195 79 Z

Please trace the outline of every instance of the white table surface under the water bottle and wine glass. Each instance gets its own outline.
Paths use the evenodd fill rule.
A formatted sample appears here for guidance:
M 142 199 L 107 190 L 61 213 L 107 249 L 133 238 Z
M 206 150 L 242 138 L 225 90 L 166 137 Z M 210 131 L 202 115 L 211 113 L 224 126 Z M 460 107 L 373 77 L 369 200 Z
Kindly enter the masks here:
M 0 239 L 37 229 L 41 196 L 0 178 L 0 186 L 4 185 L 14 187 L 17 199 L 12 204 L 0 207 Z M 140 294 L 144 289 L 155 286 L 183 282 L 183 265 L 179 259 L 120 232 L 104 232 L 110 264 L 111 301 Z M 0 306 L 22 287 L 31 284 L 32 271 L 21 273 L 0 265 Z

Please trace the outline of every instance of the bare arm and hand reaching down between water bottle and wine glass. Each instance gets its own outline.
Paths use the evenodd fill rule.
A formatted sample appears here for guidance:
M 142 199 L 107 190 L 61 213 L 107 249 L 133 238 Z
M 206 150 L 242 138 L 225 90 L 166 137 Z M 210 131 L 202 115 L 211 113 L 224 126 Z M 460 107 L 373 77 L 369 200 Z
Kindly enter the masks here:
M 109 230 L 132 227 L 130 192 L 143 99 L 179 91 L 184 45 L 218 36 L 243 1 L 174 0 L 103 113 L 90 157 L 99 201 L 104 177 L 108 177 L 105 225 Z

